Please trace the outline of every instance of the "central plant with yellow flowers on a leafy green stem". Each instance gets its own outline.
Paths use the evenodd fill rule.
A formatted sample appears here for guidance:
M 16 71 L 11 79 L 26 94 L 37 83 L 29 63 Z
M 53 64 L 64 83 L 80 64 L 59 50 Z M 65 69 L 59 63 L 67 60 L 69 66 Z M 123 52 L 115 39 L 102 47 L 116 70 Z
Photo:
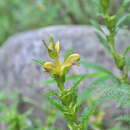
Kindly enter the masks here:
M 79 65 L 80 54 L 78 53 L 67 53 L 64 57 L 64 61 L 60 60 L 60 42 L 54 43 L 53 38 L 49 38 L 49 46 L 45 41 L 43 41 L 46 49 L 48 50 L 48 55 L 53 59 L 53 62 L 41 62 L 40 63 L 45 72 L 47 72 L 57 83 L 58 92 L 49 92 L 49 95 L 55 96 L 58 100 L 47 96 L 48 100 L 55 105 L 64 115 L 67 125 L 70 130 L 85 130 L 88 127 L 88 121 L 96 109 L 96 103 L 91 106 L 91 111 L 84 112 L 82 117 L 79 118 L 78 114 L 81 109 L 81 102 L 79 102 L 80 96 L 78 95 L 78 85 L 86 77 L 102 76 L 103 74 L 84 74 L 77 75 L 78 80 L 70 88 L 65 87 L 66 75 L 73 65 Z M 100 118 L 100 117 L 99 117 Z M 96 119 L 96 118 L 95 118 Z M 103 116 L 100 120 L 103 119 Z M 95 120 L 96 121 L 96 120 Z M 98 120 L 99 121 L 99 120 Z

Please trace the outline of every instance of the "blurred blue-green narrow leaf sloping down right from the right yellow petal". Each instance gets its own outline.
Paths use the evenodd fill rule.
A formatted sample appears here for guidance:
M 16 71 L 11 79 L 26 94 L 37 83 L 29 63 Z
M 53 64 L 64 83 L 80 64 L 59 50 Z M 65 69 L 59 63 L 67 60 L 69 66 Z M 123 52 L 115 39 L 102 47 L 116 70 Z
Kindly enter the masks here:
M 89 61 L 80 61 L 80 64 L 83 65 L 84 67 L 86 67 L 87 69 L 91 68 L 93 70 L 96 70 L 96 71 L 99 71 L 99 72 L 104 72 L 108 75 L 113 76 L 113 73 L 110 70 L 108 70 L 108 69 L 106 69 L 106 68 L 104 68 L 104 67 L 102 67 L 102 66 L 100 66 L 96 63 L 92 63 L 92 62 L 89 62 Z

